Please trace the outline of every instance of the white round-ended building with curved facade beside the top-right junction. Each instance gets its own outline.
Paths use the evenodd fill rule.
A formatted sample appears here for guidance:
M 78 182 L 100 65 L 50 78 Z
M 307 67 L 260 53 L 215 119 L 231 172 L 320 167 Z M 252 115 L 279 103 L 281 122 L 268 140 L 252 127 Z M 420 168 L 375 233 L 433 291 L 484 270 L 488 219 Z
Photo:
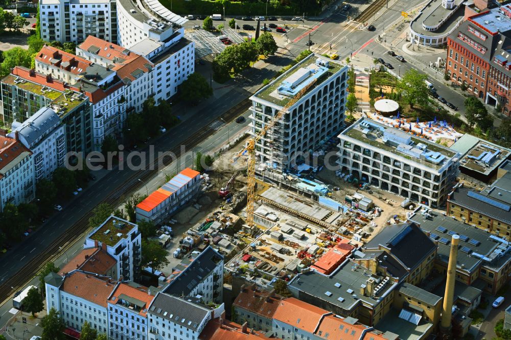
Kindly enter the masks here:
M 410 22 L 410 41 L 427 46 L 447 43 L 447 37 L 461 22 L 464 0 L 431 0 Z

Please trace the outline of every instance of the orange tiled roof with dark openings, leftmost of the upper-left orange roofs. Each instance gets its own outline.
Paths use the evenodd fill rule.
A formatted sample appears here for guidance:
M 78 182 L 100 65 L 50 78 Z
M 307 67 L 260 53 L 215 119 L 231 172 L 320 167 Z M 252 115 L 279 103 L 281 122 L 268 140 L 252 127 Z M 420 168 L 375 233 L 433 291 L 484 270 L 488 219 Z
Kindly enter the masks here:
M 48 45 L 44 45 L 41 48 L 41 51 L 37 53 L 35 60 L 47 65 L 57 66 L 75 75 L 85 72 L 87 67 L 92 64 L 92 62 L 86 59 Z M 67 62 L 68 65 L 62 65 L 62 63 L 65 62 Z

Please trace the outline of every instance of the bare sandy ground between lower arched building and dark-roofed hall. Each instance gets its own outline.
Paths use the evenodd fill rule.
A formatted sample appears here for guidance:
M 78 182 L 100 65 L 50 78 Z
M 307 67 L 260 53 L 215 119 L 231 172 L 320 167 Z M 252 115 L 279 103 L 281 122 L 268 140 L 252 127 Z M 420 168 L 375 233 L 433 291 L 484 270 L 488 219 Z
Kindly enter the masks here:
M 329 170 L 326 167 L 317 174 L 317 178 L 324 183 L 332 184 L 340 188 L 340 190 L 332 192 L 332 197 L 340 202 L 344 202 L 344 197 L 346 195 L 353 195 L 353 193 L 357 190 L 357 188 L 354 187 L 352 183 L 344 182 L 342 179 L 335 176 L 335 171 Z M 396 196 L 391 192 L 376 188 L 371 188 L 371 190 L 373 191 L 372 195 L 365 190 L 358 190 L 361 195 L 372 199 L 374 204 L 382 209 L 381 215 L 373 220 L 373 222 L 376 224 L 376 227 L 374 228 L 371 236 L 369 236 L 369 239 L 373 238 L 374 235 L 378 234 L 385 227 L 389 218 L 393 217 L 394 215 L 406 217 L 406 212 L 410 211 L 401 207 L 401 202 L 404 200 L 402 197 Z M 380 196 L 391 200 L 392 206 L 388 205 L 383 200 L 380 200 Z

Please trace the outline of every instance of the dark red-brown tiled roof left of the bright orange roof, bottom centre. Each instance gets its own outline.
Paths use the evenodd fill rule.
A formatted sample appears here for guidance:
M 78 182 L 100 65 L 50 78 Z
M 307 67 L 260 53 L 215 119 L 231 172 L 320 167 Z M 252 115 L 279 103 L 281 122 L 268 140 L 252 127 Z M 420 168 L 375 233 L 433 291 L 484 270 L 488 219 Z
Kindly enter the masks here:
M 243 287 L 233 305 L 252 313 L 272 319 L 282 297 L 255 287 Z

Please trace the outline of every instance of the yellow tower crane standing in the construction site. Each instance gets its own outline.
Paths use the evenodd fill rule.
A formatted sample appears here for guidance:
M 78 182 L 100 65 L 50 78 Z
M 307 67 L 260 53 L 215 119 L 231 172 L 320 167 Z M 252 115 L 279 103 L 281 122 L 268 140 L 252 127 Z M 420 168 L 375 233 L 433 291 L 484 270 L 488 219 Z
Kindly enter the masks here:
M 307 84 L 303 89 L 298 91 L 296 95 L 280 110 L 278 111 L 271 120 L 264 125 L 264 127 L 255 136 L 250 138 L 247 142 L 245 149 L 240 151 L 235 159 L 240 158 L 243 154 L 248 153 L 248 168 L 247 168 L 247 218 L 246 224 L 251 227 L 254 225 L 254 201 L 255 201 L 255 144 L 266 135 L 275 123 L 277 123 L 285 113 L 287 109 L 293 106 L 312 86 L 316 84 L 316 79 Z

